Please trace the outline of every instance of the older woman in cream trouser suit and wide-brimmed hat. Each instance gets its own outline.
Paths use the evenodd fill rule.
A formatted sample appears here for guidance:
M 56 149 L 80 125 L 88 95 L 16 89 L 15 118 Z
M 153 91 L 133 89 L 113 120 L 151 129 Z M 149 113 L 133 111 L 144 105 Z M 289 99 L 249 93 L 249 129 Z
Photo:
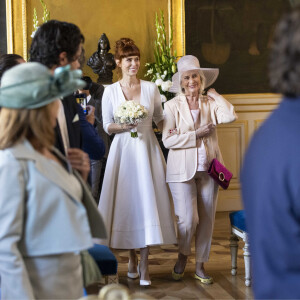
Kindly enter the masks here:
M 218 69 L 202 69 L 199 61 L 186 55 L 178 61 L 172 91 L 179 94 L 165 104 L 163 143 L 169 148 L 167 182 L 172 192 L 178 227 L 178 260 L 173 278 L 184 275 L 191 241 L 195 235 L 195 278 L 209 284 L 204 269 L 208 261 L 216 210 L 218 185 L 207 174 L 213 158 L 223 162 L 215 126 L 236 119 L 234 107 L 205 87 L 218 76 Z

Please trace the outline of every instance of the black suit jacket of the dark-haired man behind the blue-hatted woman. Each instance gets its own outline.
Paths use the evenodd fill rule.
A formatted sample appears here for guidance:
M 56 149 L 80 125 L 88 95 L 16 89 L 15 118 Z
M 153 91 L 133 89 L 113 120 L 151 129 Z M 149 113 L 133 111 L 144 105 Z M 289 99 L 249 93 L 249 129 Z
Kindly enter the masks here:
M 66 123 L 68 128 L 70 148 L 81 149 L 82 139 L 81 139 L 79 117 L 77 121 L 73 122 L 75 116 L 78 114 L 76 99 L 73 95 L 66 96 L 62 100 L 62 104 L 64 106 L 64 112 L 65 112 Z M 66 153 L 64 149 L 64 144 L 63 144 L 61 132 L 58 125 L 55 127 L 55 134 L 56 134 L 55 147 L 58 148 L 60 152 L 65 155 Z

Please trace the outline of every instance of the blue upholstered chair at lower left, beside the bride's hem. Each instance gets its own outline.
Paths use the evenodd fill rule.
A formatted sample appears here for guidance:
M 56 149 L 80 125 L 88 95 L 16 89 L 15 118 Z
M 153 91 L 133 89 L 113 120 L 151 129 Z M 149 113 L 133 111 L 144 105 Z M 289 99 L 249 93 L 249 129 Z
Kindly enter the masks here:
M 101 271 L 104 281 L 101 283 L 119 283 L 118 261 L 111 250 L 107 246 L 95 244 L 88 251 Z

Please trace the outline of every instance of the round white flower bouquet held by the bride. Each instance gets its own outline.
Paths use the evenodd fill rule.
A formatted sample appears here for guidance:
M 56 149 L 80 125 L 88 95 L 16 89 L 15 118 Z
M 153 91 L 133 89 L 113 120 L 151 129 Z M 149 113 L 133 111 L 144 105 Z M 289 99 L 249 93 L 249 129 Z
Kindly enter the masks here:
M 148 110 L 141 104 L 128 100 L 123 102 L 114 114 L 117 124 L 137 124 L 147 118 Z M 136 128 L 131 129 L 131 137 L 138 136 Z

